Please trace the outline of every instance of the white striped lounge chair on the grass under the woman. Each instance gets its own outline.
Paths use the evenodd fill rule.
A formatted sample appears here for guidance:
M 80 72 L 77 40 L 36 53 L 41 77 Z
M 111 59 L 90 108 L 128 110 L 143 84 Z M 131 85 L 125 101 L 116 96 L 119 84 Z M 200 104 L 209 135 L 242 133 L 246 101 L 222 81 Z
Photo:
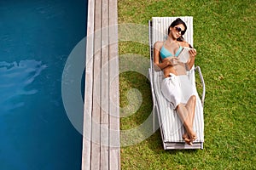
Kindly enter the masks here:
M 193 46 L 193 17 L 153 17 L 148 21 L 149 29 L 149 46 L 150 46 L 150 68 L 148 69 L 148 77 L 150 79 L 151 91 L 153 97 L 153 127 L 156 130 L 160 127 L 161 138 L 165 150 L 173 149 L 203 149 L 204 142 L 204 119 L 203 119 L 203 104 L 205 99 L 205 84 L 201 75 L 199 66 L 187 72 L 189 80 L 193 83 L 195 90 L 195 71 L 199 72 L 202 83 L 202 94 L 196 95 L 195 120 L 193 129 L 197 134 L 197 139 L 193 145 L 186 144 L 182 138 L 184 131 L 183 123 L 179 119 L 172 105 L 166 100 L 160 90 L 160 82 L 164 78 L 162 71 L 154 70 L 154 42 L 163 41 L 167 37 L 167 28 L 173 20 L 181 18 L 187 25 L 188 29 L 183 36 L 185 41 Z M 195 59 L 196 62 L 196 59 Z M 197 91 L 196 91 L 197 92 Z

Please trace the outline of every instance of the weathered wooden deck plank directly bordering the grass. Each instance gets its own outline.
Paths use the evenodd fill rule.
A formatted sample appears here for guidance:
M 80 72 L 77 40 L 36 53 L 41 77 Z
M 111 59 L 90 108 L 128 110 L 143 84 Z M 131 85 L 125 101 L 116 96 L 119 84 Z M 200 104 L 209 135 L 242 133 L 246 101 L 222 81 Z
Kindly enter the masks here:
M 120 169 L 117 0 L 109 0 L 109 169 Z

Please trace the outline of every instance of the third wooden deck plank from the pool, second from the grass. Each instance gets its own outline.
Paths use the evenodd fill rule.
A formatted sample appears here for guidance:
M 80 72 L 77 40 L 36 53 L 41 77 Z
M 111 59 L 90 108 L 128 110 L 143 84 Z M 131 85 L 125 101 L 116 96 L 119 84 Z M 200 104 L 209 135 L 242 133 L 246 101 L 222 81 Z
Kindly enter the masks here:
M 108 169 L 108 0 L 102 0 L 101 169 Z

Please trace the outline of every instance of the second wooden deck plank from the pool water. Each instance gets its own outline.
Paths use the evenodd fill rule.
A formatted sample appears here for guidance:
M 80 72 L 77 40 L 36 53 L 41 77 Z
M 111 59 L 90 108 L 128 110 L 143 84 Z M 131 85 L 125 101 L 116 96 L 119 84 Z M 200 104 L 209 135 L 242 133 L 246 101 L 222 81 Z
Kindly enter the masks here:
M 99 77 L 101 73 L 101 44 L 102 44 L 102 0 L 95 1 L 95 39 L 94 39 L 94 61 L 93 61 L 93 103 L 92 103 L 92 133 L 91 133 L 91 169 L 100 169 L 100 159 L 101 159 L 101 145 L 100 145 L 100 130 L 101 130 L 101 101 L 97 99 L 98 95 L 101 94 L 101 82 L 99 82 Z M 98 81 L 98 82 L 97 82 Z

